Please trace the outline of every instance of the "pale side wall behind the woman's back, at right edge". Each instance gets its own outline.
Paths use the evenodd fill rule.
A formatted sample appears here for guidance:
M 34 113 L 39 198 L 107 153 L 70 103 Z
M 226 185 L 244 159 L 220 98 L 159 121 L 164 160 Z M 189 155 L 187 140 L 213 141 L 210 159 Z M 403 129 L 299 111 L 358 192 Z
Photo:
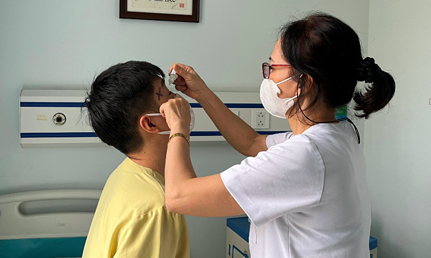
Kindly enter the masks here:
M 370 1 L 368 54 L 392 73 L 390 109 L 365 122 L 379 257 L 431 257 L 431 1 Z

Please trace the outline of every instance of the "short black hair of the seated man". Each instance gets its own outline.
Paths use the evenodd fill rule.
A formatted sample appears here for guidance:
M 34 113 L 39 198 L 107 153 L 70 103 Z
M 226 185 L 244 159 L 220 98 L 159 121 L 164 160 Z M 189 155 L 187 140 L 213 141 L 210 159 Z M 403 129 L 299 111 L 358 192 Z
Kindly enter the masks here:
M 165 74 L 156 65 L 128 61 L 94 79 L 86 105 L 91 126 L 103 142 L 125 154 L 140 151 L 139 118 L 147 111 L 157 112 L 153 83 L 160 77 Z

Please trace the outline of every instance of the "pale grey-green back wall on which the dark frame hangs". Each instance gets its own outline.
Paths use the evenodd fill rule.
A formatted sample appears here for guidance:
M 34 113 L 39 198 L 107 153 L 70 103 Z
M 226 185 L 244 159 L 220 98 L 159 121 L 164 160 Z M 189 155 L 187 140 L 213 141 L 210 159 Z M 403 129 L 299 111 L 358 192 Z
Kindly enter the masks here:
M 0 1 L 0 194 L 102 189 L 123 155 L 101 149 L 21 149 L 21 89 L 83 89 L 110 65 L 145 60 L 197 69 L 213 90 L 261 84 L 276 32 L 291 14 L 323 10 L 368 42 L 368 0 L 204 1 L 201 23 L 119 19 L 118 0 Z M 364 45 L 366 48 L 366 45 Z M 192 144 L 198 175 L 242 160 L 225 143 Z M 225 219 L 188 217 L 192 257 L 223 257 Z

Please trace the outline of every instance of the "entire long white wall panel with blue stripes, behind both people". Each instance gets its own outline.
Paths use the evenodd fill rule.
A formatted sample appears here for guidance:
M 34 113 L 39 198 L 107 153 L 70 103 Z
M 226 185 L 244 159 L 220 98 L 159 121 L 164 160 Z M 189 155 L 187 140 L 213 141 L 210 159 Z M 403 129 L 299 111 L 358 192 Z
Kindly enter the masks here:
M 218 92 L 217 96 L 258 133 L 289 131 L 285 119 L 265 111 L 258 92 Z M 20 98 L 21 146 L 23 148 L 103 147 L 90 127 L 83 101 L 85 90 L 23 89 Z M 224 140 L 201 105 L 185 98 L 193 108 L 196 122 L 192 141 Z

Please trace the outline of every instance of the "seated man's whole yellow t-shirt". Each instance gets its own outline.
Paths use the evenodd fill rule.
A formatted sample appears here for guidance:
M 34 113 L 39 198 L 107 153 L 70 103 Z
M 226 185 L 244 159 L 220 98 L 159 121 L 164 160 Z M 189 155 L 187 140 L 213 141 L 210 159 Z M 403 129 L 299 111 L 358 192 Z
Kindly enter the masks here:
M 190 258 L 184 215 L 165 206 L 162 175 L 126 158 L 103 188 L 83 258 Z

